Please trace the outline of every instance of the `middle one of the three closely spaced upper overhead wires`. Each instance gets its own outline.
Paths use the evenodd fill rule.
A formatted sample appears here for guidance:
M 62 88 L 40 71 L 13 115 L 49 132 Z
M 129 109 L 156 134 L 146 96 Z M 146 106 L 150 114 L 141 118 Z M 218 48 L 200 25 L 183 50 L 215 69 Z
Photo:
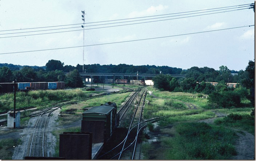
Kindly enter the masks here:
M 244 8 L 244 7 L 248 7 L 248 9 L 249 9 L 251 6 L 248 5 L 248 6 L 235 7 L 235 8 Z M 219 10 L 213 10 L 213 11 L 204 11 L 204 12 L 188 13 L 188 14 L 183 14 L 183 15 L 174 15 L 174 16 L 147 18 L 147 19 L 142 19 L 142 20 L 132 20 L 132 21 L 123 21 L 123 22 L 112 22 L 112 23 L 107 23 L 107 24 L 87 25 L 87 26 L 84 26 L 84 27 L 99 26 L 99 25 L 111 25 L 111 24 L 120 24 L 120 23 L 126 23 L 126 22 L 153 20 L 153 19 L 158 19 L 158 18 L 168 18 L 168 17 L 177 17 L 177 16 L 193 15 L 193 14 L 206 13 L 206 12 L 215 12 L 215 11 L 223 11 L 223 10 L 235 9 L 235 8 L 226 8 L 226 9 L 219 9 Z M 247 9 L 247 8 L 244 8 L 244 9 Z M 237 11 L 237 10 L 234 10 L 234 11 Z M 170 15 L 170 14 L 167 14 L 167 15 Z M 41 32 L 41 31 L 50 31 L 50 30 L 63 30 L 63 29 L 80 28 L 80 27 L 81 27 L 81 26 L 78 26 L 78 27 L 70 27 L 70 28 L 47 29 L 47 30 L 36 30 L 36 31 L 26 31 L 26 32 L 15 32 L 15 33 L 3 33 L 3 34 L 0 34 L 0 35 L 5 35 L 5 34 L 19 34 L 19 33 L 29 33 L 29 32 Z

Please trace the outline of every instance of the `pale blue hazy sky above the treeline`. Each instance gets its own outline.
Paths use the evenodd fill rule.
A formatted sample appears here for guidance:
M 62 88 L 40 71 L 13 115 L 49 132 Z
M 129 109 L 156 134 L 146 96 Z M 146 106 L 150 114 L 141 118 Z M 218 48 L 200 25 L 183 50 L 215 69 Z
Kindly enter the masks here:
M 255 26 L 249 27 L 255 25 L 255 13 L 253 9 L 244 9 L 248 8 L 244 4 L 254 2 L 253 0 L 0 0 L 0 63 L 45 66 L 49 60 L 54 59 L 63 62 L 64 65 L 76 66 L 83 64 L 84 50 L 84 64 L 124 63 L 182 69 L 207 66 L 215 70 L 219 70 L 219 67 L 224 65 L 230 70 L 245 70 L 249 60 L 255 59 Z M 219 9 L 213 8 L 226 10 L 216 11 Z M 231 10 L 236 11 L 227 12 Z M 81 27 L 83 25 L 81 11 L 85 11 L 84 34 Z M 223 11 L 226 12 L 216 13 Z M 167 15 L 171 13 L 176 14 Z M 155 19 L 134 21 L 149 18 Z M 124 21 L 133 22 L 102 25 Z M 139 22 L 147 23 L 132 24 Z M 236 28 L 241 26 L 247 27 Z M 37 30 L 48 31 L 29 32 Z M 78 31 L 63 32 L 69 30 Z M 211 30 L 219 31 L 207 32 Z M 28 36 L 29 34 L 37 35 Z M 148 38 L 156 39 L 132 41 Z M 131 42 L 107 44 L 122 41 Z M 84 49 L 79 47 L 45 50 L 83 46 L 83 44 Z M 23 52 L 33 50 L 44 51 Z

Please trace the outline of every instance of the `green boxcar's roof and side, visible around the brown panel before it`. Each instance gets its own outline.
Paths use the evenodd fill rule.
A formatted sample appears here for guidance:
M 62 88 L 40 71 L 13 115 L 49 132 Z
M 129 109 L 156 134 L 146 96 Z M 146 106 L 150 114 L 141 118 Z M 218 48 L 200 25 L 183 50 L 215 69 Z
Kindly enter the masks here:
M 104 140 L 107 141 L 115 129 L 116 108 L 113 106 L 96 106 L 83 113 L 83 120 L 104 121 Z M 95 128 L 95 127 L 91 127 Z M 99 130 L 99 129 L 97 129 Z

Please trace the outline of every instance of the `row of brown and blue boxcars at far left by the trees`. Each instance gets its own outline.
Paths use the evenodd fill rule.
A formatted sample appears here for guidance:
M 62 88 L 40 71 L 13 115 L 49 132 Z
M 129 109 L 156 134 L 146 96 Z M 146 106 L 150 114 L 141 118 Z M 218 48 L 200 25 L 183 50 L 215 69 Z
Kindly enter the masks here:
M 16 91 L 64 89 L 65 82 L 18 82 Z M 0 83 L 0 94 L 14 91 L 14 83 Z

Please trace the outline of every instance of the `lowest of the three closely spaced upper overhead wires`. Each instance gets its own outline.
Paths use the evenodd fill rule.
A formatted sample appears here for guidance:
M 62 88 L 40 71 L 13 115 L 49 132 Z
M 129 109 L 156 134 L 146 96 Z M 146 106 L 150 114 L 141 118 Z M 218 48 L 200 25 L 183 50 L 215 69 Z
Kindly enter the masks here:
M 247 8 L 243 8 L 243 9 L 247 9 Z M 238 11 L 238 10 L 243 10 L 243 9 L 235 9 L 235 10 L 231 10 L 231 11 Z M 51 32 L 51 33 L 39 33 L 39 34 L 19 35 L 19 36 L 7 36 L 7 37 L 0 37 L 0 38 L 21 37 L 21 36 L 34 36 L 34 35 L 42 35 L 42 34 L 52 34 L 52 33 L 73 32 L 73 31 L 81 31 L 81 30 L 92 30 L 92 29 L 101 29 L 101 28 L 111 28 L 111 27 L 117 27 L 117 26 L 126 26 L 126 25 L 135 25 L 135 24 L 144 24 L 144 23 L 149 23 L 149 22 L 158 22 L 158 21 L 175 20 L 175 19 L 179 19 L 179 18 L 188 18 L 188 17 L 203 16 L 203 15 L 212 15 L 212 14 L 216 14 L 216 13 L 224 13 L 224 12 L 231 12 L 231 11 L 222 11 L 222 12 L 207 13 L 207 14 L 202 14 L 202 15 L 194 15 L 194 16 L 186 16 L 186 17 L 178 17 L 178 18 L 169 18 L 169 19 L 164 19 L 164 20 L 155 20 L 155 21 L 147 21 L 147 22 L 137 22 L 137 23 L 132 23 L 132 24 L 123 24 L 123 25 L 114 25 L 114 26 L 104 26 L 104 27 L 90 28 L 90 29 L 69 30 L 69 31 Z

